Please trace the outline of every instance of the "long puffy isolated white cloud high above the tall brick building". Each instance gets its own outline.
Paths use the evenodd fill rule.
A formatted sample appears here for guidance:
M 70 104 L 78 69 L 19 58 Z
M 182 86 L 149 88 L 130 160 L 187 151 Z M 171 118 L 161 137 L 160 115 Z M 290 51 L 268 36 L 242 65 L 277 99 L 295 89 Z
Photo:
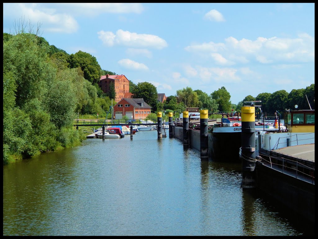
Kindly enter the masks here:
M 106 46 L 125 46 L 132 48 L 155 48 L 162 49 L 168 46 L 167 42 L 159 36 L 149 34 L 137 34 L 135 32 L 117 30 L 116 34 L 109 31 L 99 31 L 98 38 Z

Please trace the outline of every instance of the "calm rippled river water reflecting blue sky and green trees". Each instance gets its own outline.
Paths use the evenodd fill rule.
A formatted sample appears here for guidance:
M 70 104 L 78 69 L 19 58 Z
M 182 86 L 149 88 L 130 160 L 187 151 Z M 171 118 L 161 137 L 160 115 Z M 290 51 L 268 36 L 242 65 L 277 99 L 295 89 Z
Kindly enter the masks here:
M 241 165 L 201 161 L 157 131 L 3 166 L 3 236 L 297 236 Z

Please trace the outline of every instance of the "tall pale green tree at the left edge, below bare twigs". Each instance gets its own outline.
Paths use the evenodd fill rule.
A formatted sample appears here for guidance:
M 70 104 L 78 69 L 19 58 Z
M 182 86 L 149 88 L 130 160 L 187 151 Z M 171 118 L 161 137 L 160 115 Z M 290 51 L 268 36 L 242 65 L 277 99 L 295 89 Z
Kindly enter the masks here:
M 3 72 L 14 74 L 18 107 L 34 98 L 45 98 L 46 82 L 54 74 L 45 50 L 37 45 L 36 37 L 31 34 L 19 34 L 3 42 Z

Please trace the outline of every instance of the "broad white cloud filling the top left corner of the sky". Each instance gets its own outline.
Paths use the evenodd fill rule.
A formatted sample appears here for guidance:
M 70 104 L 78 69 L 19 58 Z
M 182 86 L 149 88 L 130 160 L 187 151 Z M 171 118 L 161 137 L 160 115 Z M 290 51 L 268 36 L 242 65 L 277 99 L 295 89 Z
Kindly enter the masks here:
M 96 17 L 103 13 L 136 13 L 141 3 L 3 3 L 3 19 L 21 19 L 45 32 L 74 33 L 79 29 L 75 16 Z M 114 15 L 113 15 L 114 16 Z M 12 26 L 13 27 L 13 26 Z M 36 30 L 36 29 L 35 29 Z

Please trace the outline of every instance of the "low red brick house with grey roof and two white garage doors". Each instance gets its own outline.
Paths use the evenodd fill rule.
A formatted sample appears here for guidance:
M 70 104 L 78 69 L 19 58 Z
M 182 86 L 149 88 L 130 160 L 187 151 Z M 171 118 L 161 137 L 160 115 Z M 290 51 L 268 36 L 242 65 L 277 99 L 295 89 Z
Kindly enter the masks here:
M 128 119 L 145 119 L 151 112 L 151 106 L 143 101 L 143 98 L 123 98 L 114 105 L 114 118 L 122 119 L 124 115 Z

